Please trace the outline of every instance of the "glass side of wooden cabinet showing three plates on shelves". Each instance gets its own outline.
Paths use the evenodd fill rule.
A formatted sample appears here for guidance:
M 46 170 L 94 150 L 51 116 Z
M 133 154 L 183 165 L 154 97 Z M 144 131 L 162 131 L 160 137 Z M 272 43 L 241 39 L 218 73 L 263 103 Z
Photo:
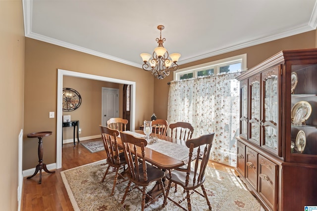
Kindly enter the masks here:
M 291 66 L 291 141 L 287 150 L 295 162 L 317 157 L 317 61 L 311 62 L 315 64 Z

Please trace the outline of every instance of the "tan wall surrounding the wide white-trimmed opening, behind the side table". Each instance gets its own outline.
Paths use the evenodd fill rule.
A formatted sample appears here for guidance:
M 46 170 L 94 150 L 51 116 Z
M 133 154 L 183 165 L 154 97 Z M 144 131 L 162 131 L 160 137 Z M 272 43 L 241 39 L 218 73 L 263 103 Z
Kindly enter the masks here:
M 97 56 L 67 49 L 34 39 L 25 39 L 25 134 L 36 131 L 53 131 L 43 138 L 46 164 L 56 162 L 56 118 L 49 112 L 57 112 L 57 69 L 104 76 L 136 82 L 136 122 L 153 113 L 154 78 L 140 68 L 121 64 Z M 95 124 L 96 127 L 100 120 Z M 84 132 L 84 130 L 83 130 Z M 32 169 L 38 164 L 38 140 L 24 137 L 23 169 Z

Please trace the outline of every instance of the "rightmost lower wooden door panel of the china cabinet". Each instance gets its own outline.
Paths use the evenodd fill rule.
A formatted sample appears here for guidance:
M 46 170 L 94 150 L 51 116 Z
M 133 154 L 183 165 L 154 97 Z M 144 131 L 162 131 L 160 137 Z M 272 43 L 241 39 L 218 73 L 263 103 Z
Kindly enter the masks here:
M 278 166 L 259 155 L 259 185 L 258 192 L 265 203 L 272 209 L 277 197 Z

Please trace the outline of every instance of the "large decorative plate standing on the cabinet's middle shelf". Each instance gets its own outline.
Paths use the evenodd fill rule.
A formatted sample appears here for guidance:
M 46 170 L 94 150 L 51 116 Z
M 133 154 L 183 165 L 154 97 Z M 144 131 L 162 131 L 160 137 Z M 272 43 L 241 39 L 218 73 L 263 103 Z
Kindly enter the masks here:
M 312 106 L 307 101 L 297 102 L 292 110 L 292 122 L 293 124 L 300 124 L 305 122 L 312 114 Z

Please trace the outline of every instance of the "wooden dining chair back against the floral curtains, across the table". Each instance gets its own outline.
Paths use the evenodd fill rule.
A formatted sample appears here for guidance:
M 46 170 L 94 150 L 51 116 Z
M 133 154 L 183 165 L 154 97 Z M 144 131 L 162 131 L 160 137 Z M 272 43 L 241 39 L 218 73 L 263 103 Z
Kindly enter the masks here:
M 194 127 L 190 123 L 177 122 L 169 124 L 171 129 L 171 137 L 177 138 L 183 141 L 187 141 L 192 138 Z

